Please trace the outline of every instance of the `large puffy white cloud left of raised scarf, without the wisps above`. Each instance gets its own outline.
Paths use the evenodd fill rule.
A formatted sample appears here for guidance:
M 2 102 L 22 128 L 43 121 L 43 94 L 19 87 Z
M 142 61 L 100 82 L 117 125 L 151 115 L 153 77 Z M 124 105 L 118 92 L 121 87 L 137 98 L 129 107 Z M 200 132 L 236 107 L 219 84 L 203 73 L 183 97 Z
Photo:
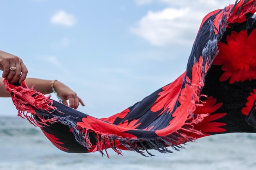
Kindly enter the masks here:
M 148 11 L 130 31 L 155 46 L 191 44 L 204 17 L 201 11 L 166 8 L 159 12 Z

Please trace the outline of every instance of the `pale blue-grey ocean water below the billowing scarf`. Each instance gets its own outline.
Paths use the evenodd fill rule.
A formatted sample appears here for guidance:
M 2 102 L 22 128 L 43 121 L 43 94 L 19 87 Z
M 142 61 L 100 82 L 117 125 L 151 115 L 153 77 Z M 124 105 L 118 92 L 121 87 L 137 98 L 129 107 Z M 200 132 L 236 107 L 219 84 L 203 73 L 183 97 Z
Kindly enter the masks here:
M 189 142 L 174 153 L 152 150 L 153 157 L 108 149 L 108 159 L 99 152 L 63 152 L 27 120 L 0 117 L 0 170 L 256 170 L 255 144 L 256 134 L 231 133 Z

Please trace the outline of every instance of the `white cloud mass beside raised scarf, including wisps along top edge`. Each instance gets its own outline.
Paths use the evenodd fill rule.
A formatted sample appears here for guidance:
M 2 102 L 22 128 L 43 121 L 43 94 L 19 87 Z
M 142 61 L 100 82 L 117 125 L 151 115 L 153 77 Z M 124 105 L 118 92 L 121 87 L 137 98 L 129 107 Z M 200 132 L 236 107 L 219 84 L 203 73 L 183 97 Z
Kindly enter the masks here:
M 149 1 L 145 0 L 146 2 Z M 153 46 L 167 46 L 193 44 L 204 16 L 216 9 L 223 9 L 233 0 L 198 0 L 196 3 L 191 0 L 150 2 L 164 3 L 166 7 L 160 11 L 149 10 L 130 28 L 130 32 L 144 38 Z M 145 4 L 144 0 L 137 0 L 136 3 Z

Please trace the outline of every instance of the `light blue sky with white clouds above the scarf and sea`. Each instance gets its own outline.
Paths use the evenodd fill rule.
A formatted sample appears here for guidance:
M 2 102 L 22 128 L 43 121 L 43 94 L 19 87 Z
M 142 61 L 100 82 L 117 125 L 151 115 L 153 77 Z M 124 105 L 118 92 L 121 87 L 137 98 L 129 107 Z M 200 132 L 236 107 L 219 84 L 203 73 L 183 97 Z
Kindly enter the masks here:
M 77 110 L 102 118 L 181 75 L 203 17 L 235 0 L 0 2 L 0 50 L 22 58 L 27 77 L 63 82 L 85 103 Z M 0 102 L 0 116 L 17 116 L 11 98 Z

